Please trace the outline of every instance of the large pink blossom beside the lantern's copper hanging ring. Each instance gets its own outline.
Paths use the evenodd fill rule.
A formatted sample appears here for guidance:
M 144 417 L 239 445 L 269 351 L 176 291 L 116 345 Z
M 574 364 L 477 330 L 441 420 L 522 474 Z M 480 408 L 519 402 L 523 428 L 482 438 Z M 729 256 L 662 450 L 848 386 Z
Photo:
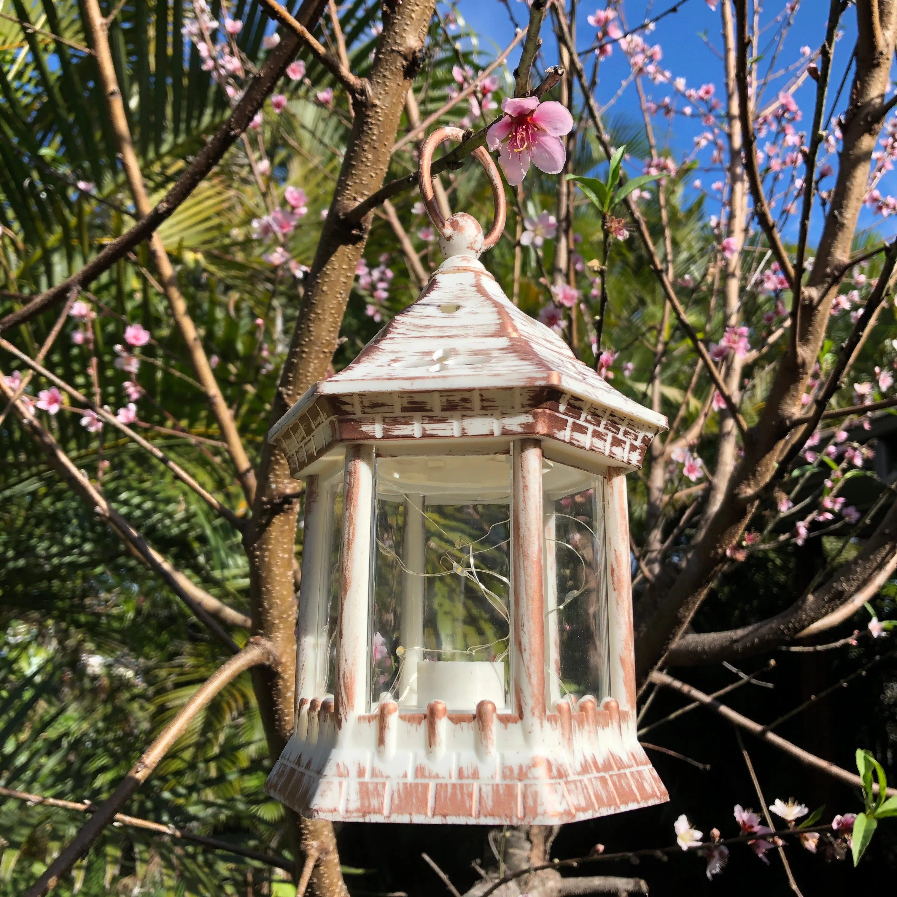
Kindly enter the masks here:
M 573 117 L 561 103 L 540 103 L 537 97 L 502 100 L 505 113 L 486 135 L 490 150 L 501 148 L 499 163 L 512 187 L 526 176 L 530 160 L 546 174 L 557 174 L 567 159 L 562 135 L 570 133 Z

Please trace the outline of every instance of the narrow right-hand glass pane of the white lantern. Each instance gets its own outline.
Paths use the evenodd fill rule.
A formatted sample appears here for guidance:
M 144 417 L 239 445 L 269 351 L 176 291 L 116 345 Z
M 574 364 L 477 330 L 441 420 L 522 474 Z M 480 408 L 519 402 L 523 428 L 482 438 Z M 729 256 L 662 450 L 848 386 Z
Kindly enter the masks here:
M 551 703 L 610 694 L 605 479 L 544 462 L 544 596 Z

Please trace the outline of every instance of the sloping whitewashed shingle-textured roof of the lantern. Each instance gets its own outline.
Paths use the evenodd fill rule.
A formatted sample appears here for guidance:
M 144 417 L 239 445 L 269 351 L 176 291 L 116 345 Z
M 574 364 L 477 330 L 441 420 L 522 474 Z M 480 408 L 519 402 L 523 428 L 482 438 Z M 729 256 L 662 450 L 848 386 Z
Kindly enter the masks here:
M 666 416 L 614 389 L 530 318 L 471 256 L 447 258 L 420 298 L 399 312 L 334 376 L 319 380 L 268 433 L 276 441 L 319 397 L 483 388 L 554 388 L 598 413 L 666 430 Z

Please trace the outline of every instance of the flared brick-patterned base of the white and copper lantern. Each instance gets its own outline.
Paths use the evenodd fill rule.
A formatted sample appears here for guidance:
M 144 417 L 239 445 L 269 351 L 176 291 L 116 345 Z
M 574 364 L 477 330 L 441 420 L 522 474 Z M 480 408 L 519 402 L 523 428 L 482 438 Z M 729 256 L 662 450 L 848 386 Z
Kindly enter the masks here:
M 395 701 L 336 727 L 332 700 L 300 701 L 266 791 L 311 819 L 366 823 L 554 825 L 652 806 L 666 788 L 634 718 L 586 696 L 558 701 L 542 727 L 480 701 L 400 714 Z

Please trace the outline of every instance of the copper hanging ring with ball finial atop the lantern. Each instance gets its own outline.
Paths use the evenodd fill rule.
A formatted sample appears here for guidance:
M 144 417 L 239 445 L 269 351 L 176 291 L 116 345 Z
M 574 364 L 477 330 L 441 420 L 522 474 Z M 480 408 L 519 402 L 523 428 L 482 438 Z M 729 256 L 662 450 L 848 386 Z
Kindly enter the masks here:
M 438 127 L 433 133 L 427 137 L 421 147 L 421 162 L 417 170 L 417 180 L 421 187 L 421 196 L 423 205 L 426 207 L 427 214 L 433 222 L 436 230 L 440 234 L 440 246 L 447 256 L 466 255 L 472 252 L 479 256 L 486 249 L 491 249 L 501 237 L 504 231 L 505 215 L 507 213 L 507 205 L 505 203 L 504 185 L 501 183 L 501 175 L 492 160 L 492 156 L 486 152 L 484 146 L 478 146 L 473 155 L 479 160 L 480 164 L 486 171 L 486 178 L 489 179 L 489 186 L 492 187 L 492 202 L 495 207 L 495 213 L 492 217 L 492 227 L 489 233 L 483 237 L 483 229 L 480 223 L 472 215 L 465 212 L 457 212 L 449 216 L 448 221 L 442 217 L 440 207 L 436 203 L 433 196 L 433 182 L 431 175 L 431 165 L 433 160 L 433 152 L 436 147 L 447 140 L 454 140 L 461 143 L 464 139 L 464 131 L 459 127 Z M 471 222 L 476 225 L 472 228 Z M 476 231 L 472 234 L 470 231 Z M 462 238 L 462 239 L 458 239 Z M 465 240 L 464 238 L 470 238 Z M 482 243 L 480 240 L 482 239 Z M 465 244 L 460 246 L 459 243 Z M 479 245 L 474 245 L 479 244 Z

